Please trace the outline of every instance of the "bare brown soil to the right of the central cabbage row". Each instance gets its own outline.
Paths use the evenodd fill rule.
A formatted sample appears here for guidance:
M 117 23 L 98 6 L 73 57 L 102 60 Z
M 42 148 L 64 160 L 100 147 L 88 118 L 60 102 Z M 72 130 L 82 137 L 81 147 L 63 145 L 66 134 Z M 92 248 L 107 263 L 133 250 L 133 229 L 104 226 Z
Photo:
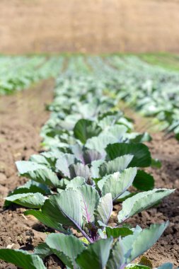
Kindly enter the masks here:
M 149 168 L 156 181 L 156 188 L 175 188 L 175 193 L 163 200 L 158 207 L 137 215 L 137 222 L 151 224 L 167 221 L 170 225 L 156 245 L 147 252 L 147 256 L 156 266 L 165 262 L 179 265 L 179 144 L 175 138 L 154 134 L 150 143 L 152 156 L 160 159 L 161 169 Z

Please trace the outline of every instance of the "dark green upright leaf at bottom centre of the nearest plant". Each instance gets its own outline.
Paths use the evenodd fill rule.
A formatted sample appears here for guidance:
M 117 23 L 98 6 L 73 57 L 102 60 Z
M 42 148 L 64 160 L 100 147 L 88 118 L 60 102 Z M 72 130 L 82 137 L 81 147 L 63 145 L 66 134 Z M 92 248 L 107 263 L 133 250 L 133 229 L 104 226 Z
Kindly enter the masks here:
M 100 239 L 83 251 L 77 258 L 76 263 L 81 269 L 104 269 L 110 256 L 112 239 Z

